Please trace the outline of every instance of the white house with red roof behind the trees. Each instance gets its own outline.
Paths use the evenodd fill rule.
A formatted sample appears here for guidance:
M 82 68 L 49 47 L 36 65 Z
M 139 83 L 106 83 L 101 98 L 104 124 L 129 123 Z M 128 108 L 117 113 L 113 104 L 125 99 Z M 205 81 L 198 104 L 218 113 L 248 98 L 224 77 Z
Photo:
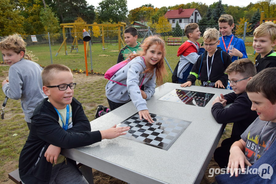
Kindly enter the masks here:
M 164 15 L 169 22 L 172 24 L 172 27 L 175 28 L 175 24 L 178 21 L 181 29 L 185 28 L 185 25 L 196 22 L 198 23 L 201 20 L 201 15 L 199 11 L 195 8 L 182 9 L 178 10 L 168 10 Z

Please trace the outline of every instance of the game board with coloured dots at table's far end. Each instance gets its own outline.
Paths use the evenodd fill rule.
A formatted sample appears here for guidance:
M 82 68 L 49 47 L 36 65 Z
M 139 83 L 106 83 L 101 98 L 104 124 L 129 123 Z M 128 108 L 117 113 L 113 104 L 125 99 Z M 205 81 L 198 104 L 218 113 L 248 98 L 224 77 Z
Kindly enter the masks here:
M 215 94 L 174 89 L 158 100 L 205 107 Z

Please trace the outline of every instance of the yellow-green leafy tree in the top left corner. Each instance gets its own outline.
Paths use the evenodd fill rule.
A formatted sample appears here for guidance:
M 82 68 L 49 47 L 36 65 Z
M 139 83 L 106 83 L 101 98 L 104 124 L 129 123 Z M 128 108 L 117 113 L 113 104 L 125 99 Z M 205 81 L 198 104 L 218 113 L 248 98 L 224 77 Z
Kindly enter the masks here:
M 24 34 L 24 17 L 15 10 L 15 5 L 9 0 L 0 1 L 0 35 L 8 36 L 13 33 Z

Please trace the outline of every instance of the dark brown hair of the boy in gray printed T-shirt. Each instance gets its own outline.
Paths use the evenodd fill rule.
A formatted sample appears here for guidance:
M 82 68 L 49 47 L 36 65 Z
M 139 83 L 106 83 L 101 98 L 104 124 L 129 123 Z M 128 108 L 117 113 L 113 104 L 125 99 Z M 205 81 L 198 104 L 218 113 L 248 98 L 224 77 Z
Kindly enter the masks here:
M 246 85 L 246 92 L 261 93 L 273 105 L 276 103 L 276 67 L 265 68 Z

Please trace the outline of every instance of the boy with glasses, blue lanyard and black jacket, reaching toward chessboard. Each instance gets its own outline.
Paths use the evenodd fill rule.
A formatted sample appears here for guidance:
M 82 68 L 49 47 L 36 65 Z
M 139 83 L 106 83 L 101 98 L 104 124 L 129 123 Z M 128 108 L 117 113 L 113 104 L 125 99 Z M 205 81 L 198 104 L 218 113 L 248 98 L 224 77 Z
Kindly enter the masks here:
M 76 161 L 60 155 L 61 148 L 77 148 L 126 134 L 129 127 L 91 132 L 81 103 L 73 98 L 76 83 L 71 70 L 52 64 L 41 73 L 48 96 L 34 110 L 28 139 L 19 157 L 19 176 L 24 183 L 88 184 Z

